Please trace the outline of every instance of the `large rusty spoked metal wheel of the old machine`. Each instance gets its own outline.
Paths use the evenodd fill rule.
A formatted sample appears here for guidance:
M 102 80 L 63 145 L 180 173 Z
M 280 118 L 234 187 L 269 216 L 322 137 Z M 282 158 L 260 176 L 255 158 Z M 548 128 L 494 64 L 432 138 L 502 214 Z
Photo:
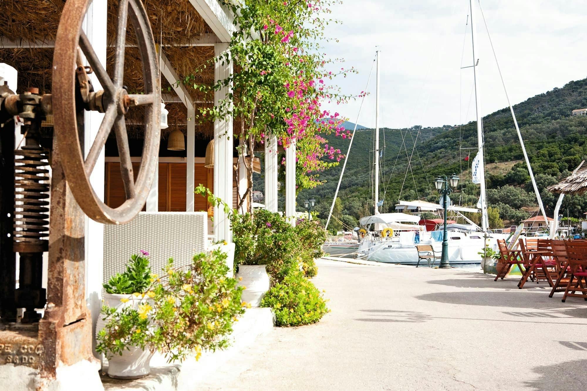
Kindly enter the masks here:
M 116 47 L 113 78 L 106 73 L 98 60 L 89 39 L 82 31 L 82 22 L 92 0 L 68 0 L 63 7 L 55 39 L 53 55 L 52 104 L 55 120 L 55 136 L 59 156 L 73 196 L 84 213 L 100 223 L 124 224 L 143 208 L 153 184 L 160 143 L 161 89 L 158 85 L 159 67 L 153 32 L 149 18 L 140 0 L 120 0 L 116 26 Z M 129 95 L 123 88 L 124 49 L 127 45 L 127 20 L 136 32 L 143 62 L 144 94 Z M 91 69 L 102 84 L 103 91 L 90 93 L 89 106 L 85 109 L 100 110 L 104 118 L 84 159 L 77 129 L 80 101 L 80 77 L 86 77 L 80 66 L 79 49 L 86 56 Z M 89 89 L 86 90 L 89 91 Z M 83 90 L 82 90 L 83 92 Z M 83 93 L 81 94 L 83 96 Z M 141 165 L 136 181 L 130 160 L 129 140 L 124 117 L 131 106 L 144 106 L 144 144 Z M 126 201 L 120 207 L 110 208 L 96 195 L 90 174 L 100 156 L 104 144 L 114 129 L 120 156 L 120 170 L 126 193 Z

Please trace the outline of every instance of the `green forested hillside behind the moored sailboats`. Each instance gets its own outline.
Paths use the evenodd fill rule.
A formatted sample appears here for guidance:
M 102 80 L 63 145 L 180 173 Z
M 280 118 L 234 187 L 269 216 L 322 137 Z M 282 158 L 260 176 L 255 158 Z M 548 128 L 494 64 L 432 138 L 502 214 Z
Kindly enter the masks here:
M 587 79 L 569 82 L 562 88 L 514 106 L 546 213 L 551 217 L 558 197 L 544 189 L 568 176 L 569 171 L 587 157 L 587 117 L 571 117 L 573 109 L 582 107 L 587 107 Z M 498 209 L 504 224 L 518 223 L 535 213 L 537 203 L 510 109 L 489 114 L 483 123 L 488 203 Z M 358 218 L 373 212 L 373 135 L 372 129 L 357 130 L 340 186 L 340 203 L 337 203 L 335 212 L 348 225 L 356 225 Z M 335 148 L 343 151 L 348 148 L 348 140 L 328 136 L 327 139 Z M 438 175 L 453 172 L 463 178 L 459 190 L 451 195 L 454 203 L 475 205 L 479 190 L 478 185 L 470 181 L 469 166 L 476 151 L 460 148 L 476 146 L 476 122 L 423 129 L 420 126 L 382 129 L 379 197 L 385 200 L 382 211 L 393 211 L 398 199 L 437 201 L 438 194 L 432 181 Z M 469 151 L 470 159 L 465 161 Z M 411 164 L 408 165 L 410 156 Z M 341 168 L 342 162 L 340 166 L 323 172 L 320 179 L 325 184 L 322 186 L 300 191 L 298 210 L 303 208 L 303 200 L 314 197 L 318 200 L 316 211 L 319 217 L 326 218 Z M 581 218 L 585 211 L 587 197 L 565 197 L 562 214 Z M 498 220 L 496 217 L 492 222 L 500 224 Z

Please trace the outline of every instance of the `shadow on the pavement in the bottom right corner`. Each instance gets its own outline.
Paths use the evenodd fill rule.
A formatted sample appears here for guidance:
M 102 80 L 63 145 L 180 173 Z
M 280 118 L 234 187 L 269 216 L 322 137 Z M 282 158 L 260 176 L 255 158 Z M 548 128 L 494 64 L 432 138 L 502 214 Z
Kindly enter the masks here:
M 538 377 L 526 380 L 524 385 L 535 390 L 584 390 L 587 387 L 586 366 L 587 360 L 535 366 L 532 372 Z

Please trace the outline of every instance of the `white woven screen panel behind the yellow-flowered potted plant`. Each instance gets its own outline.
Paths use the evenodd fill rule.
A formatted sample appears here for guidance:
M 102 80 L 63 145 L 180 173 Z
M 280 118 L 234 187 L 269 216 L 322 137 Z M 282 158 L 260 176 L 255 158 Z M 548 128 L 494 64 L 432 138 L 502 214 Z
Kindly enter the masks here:
M 169 258 L 176 267 L 190 264 L 194 254 L 205 251 L 207 231 L 205 212 L 141 212 L 130 223 L 104 225 L 103 280 L 126 270 L 130 256 L 139 250 L 149 251 L 156 274 Z

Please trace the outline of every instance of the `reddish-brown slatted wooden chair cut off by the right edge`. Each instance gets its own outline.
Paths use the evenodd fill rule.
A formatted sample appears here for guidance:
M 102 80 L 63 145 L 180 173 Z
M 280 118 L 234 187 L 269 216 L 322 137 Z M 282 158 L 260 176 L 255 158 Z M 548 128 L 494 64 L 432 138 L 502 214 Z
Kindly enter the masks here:
M 582 297 L 587 300 L 587 242 L 568 240 L 565 241 L 565 247 L 569 282 L 566 284 L 562 302 L 568 297 Z

